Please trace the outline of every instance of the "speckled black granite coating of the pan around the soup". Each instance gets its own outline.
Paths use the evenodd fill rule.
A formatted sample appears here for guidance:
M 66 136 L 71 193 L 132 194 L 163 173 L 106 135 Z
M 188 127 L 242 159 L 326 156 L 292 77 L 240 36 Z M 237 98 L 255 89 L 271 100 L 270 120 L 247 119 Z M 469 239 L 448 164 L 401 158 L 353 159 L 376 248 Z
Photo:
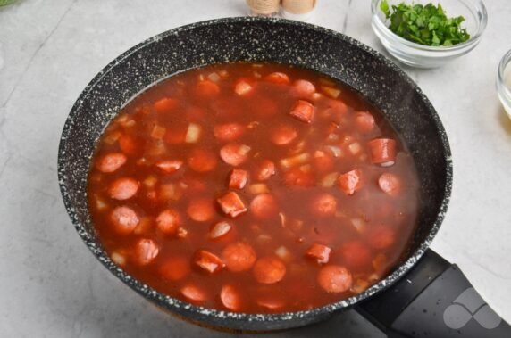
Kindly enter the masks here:
M 403 136 L 421 179 L 423 210 L 408 259 L 364 293 L 309 311 L 247 315 L 205 309 L 157 293 L 117 268 L 98 243 L 88 215 L 86 179 L 97 138 L 122 105 L 162 78 L 215 62 L 280 62 L 337 78 L 386 114 Z M 132 289 L 184 317 L 233 329 L 304 326 L 361 301 L 403 276 L 436 235 L 448 207 L 452 163 L 448 139 L 431 103 L 394 63 L 356 40 L 297 21 L 232 18 L 172 29 L 121 54 L 74 104 L 58 159 L 63 200 L 80 237 L 106 268 Z

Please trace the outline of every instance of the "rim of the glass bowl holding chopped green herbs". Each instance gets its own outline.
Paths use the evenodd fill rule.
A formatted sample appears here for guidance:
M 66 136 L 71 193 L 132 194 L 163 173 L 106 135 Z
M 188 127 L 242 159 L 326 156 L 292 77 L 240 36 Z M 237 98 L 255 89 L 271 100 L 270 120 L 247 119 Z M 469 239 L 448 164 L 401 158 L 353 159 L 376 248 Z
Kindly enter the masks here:
M 412 48 L 417 51 L 422 52 L 431 52 L 436 54 L 441 53 L 448 53 L 448 52 L 457 52 L 460 50 L 464 50 L 465 48 L 469 48 L 474 44 L 477 44 L 479 40 L 482 37 L 482 34 L 484 33 L 484 30 L 486 29 L 486 26 L 488 25 L 488 12 L 486 11 L 486 6 L 482 2 L 482 0 L 473 0 L 477 3 L 476 6 L 473 6 L 470 4 L 470 2 L 465 0 L 457 0 L 463 4 L 465 4 L 465 7 L 469 9 L 470 12 L 475 13 L 476 22 L 477 25 L 477 31 L 475 34 L 472 34 L 471 37 L 457 45 L 421 45 L 417 44 L 416 42 L 406 40 L 404 37 L 399 37 L 398 34 L 394 33 L 389 29 L 389 26 L 385 23 L 385 21 L 381 20 L 381 17 L 378 15 L 380 11 L 379 4 L 381 3 L 381 0 L 372 0 L 371 2 L 371 12 L 372 12 L 372 18 L 373 22 L 376 24 L 377 28 L 381 30 L 383 36 L 385 36 L 387 39 L 394 39 L 395 42 L 397 42 L 400 45 L 406 45 L 409 48 Z M 481 12 L 481 18 L 479 18 L 479 15 L 477 13 Z M 478 19 L 478 20 L 477 20 Z

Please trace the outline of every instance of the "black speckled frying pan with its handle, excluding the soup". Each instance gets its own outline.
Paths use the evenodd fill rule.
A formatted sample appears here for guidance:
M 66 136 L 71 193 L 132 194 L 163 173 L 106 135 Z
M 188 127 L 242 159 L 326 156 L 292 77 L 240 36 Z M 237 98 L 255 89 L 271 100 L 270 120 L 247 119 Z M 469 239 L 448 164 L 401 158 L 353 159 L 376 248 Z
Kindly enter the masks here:
M 158 293 L 105 254 L 88 213 L 86 183 L 97 138 L 121 107 L 156 81 L 216 62 L 281 62 L 317 70 L 355 88 L 380 108 L 414 156 L 422 209 L 413 241 L 380 283 L 345 301 L 276 315 L 205 309 Z M 448 138 L 412 79 L 366 45 L 296 21 L 233 18 L 172 29 L 136 45 L 84 89 L 63 128 L 58 156 L 63 201 L 80 237 L 106 268 L 159 307 L 206 326 L 277 330 L 305 326 L 356 306 L 390 335 L 511 336 L 511 329 L 473 290 L 456 265 L 428 247 L 448 207 L 452 162 Z

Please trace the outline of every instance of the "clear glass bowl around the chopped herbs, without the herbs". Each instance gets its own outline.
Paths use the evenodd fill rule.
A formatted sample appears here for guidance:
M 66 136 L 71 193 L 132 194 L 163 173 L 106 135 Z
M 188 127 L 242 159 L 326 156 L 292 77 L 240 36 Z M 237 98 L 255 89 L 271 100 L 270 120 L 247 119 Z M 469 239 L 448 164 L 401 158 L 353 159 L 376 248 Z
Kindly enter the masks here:
M 447 12 L 448 17 L 462 15 L 465 21 L 462 23 L 470 39 L 450 46 L 419 45 L 399 37 L 388 29 L 389 21 L 381 12 L 382 0 L 373 0 L 371 10 L 373 12 L 372 26 L 374 34 L 380 39 L 381 44 L 398 61 L 417 68 L 435 68 L 450 62 L 461 55 L 465 55 L 479 43 L 482 32 L 486 28 L 488 14 L 481 0 L 442 0 L 441 6 Z M 389 5 L 400 4 L 428 4 L 437 2 L 433 0 L 388 0 Z

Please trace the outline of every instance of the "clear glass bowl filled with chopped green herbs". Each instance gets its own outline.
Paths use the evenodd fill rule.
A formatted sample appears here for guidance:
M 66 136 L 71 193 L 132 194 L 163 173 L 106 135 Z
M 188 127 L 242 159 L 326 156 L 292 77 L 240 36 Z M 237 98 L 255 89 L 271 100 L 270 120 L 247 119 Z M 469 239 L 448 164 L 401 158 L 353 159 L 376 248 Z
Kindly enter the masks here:
M 371 7 L 381 44 L 418 68 L 440 67 L 473 50 L 488 21 L 481 0 L 373 0 Z

